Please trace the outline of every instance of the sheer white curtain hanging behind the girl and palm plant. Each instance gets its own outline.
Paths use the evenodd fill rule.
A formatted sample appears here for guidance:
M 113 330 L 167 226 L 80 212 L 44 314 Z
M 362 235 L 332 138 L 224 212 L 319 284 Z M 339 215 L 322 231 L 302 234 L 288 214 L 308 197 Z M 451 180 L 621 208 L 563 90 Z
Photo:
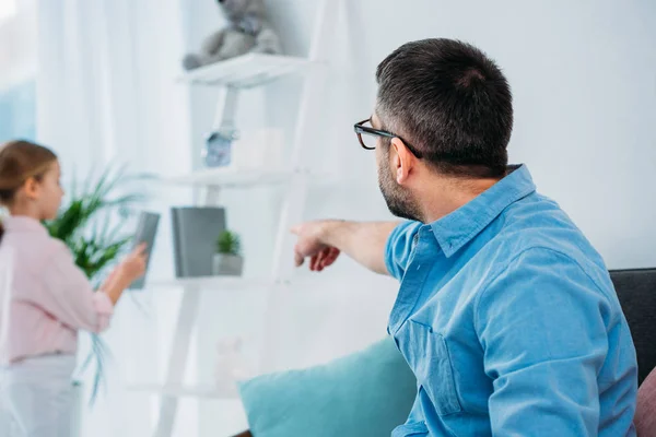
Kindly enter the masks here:
M 110 162 L 129 164 L 133 173 L 171 174 L 190 166 L 188 94 L 174 81 L 184 52 L 178 3 L 37 0 L 37 138 L 60 155 L 65 179 Z M 155 199 L 150 208 L 163 204 Z M 172 265 L 169 238 L 161 234 L 152 275 L 165 275 Z M 159 341 L 156 306 L 169 311 L 176 302 L 151 300 L 144 293 L 126 296 L 117 306 L 104 335 L 114 356 L 108 383 L 92 409 L 93 373 L 84 376 L 81 436 L 152 433 L 155 399 L 125 387 L 126 381 L 156 380 L 153 376 L 162 373 L 159 358 L 167 339 Z M 87 347 L 83 342 L 81 358 Z

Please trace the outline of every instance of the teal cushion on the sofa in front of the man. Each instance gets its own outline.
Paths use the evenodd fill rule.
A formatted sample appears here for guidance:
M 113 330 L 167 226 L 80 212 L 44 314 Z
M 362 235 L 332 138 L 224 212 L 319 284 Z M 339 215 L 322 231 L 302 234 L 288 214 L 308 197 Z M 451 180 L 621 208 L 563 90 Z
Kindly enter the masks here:
M 254 437 L 380 437 L 406 422 L 417 381 L 388 338 L 321 366 L 257 377 L 239 390 Z

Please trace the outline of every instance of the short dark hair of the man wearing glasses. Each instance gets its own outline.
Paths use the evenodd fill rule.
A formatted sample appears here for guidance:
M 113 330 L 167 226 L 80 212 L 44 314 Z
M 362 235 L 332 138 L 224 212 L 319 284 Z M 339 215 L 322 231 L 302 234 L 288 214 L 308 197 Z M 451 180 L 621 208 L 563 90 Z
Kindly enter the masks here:
M 408 43 L 380 62 L 376 80 L 383 129 L 407 140 L 437 170 L 505 174 L 513 97 L 481 50 L 444 38 Z

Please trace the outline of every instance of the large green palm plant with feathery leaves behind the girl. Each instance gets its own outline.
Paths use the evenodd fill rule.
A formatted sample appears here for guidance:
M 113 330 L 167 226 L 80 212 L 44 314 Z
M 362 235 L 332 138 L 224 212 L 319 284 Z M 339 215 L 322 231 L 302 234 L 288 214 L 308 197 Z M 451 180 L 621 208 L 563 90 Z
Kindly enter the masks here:
M 96 287 L 128 249 L 131 237 L 121 228 L 124 221 L 145 200 L 142 193 L 131 191 L 131 185 L 141 178 L 126 176 L 124 169 L 115 170 L 110 166 L 97 179 L 86 178 L 82 188 L 73 180 L 57 218 L 45 223 L 50 235 L 68 246 L 75 264 Z M 93 402 L 103 381 L 109 351 L 99 335 L 91 334 L 91 340 L 92 350 L 82 370 L 95 362 Z

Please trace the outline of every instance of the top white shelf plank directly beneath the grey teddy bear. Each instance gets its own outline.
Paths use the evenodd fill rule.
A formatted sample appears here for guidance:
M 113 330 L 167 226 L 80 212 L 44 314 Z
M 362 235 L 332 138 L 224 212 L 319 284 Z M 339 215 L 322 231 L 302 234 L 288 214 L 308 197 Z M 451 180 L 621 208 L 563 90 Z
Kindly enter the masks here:
M 206 86 L 249 88 L 302 72 L 312 62 L 291 56 L 247 54 L 186 72 L 178 82 Z

